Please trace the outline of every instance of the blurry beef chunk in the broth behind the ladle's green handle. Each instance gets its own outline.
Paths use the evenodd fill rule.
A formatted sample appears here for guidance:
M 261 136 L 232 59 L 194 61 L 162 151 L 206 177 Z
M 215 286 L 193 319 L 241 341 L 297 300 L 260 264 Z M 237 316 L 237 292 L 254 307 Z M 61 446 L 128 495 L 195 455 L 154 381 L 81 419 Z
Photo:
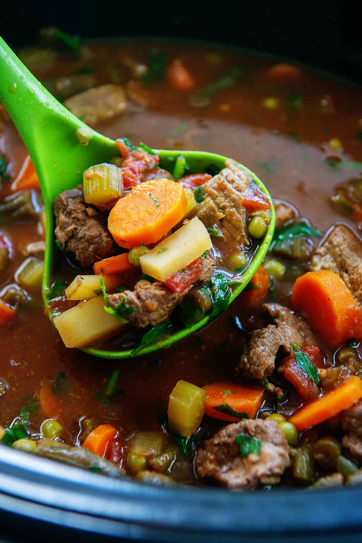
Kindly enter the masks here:
M 94 126 L 123 113 L 127 108 L 127 98 L 123 87 L 108 84 L 75 94 L 65 100 L 64 105 L 75 117 L 81 117 L 86 124 Z

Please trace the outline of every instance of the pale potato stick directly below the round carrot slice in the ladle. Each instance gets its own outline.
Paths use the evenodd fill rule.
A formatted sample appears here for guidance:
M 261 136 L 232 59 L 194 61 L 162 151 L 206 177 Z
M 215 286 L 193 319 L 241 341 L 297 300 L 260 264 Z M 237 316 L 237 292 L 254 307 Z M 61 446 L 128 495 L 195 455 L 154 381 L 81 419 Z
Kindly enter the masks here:
M 212 241 L 208 231 L 201 220 L 194 217 L 141 256 L 139 262 L 143 273 L 164 282 L 175 271 L 186 268 L 211 247 Z

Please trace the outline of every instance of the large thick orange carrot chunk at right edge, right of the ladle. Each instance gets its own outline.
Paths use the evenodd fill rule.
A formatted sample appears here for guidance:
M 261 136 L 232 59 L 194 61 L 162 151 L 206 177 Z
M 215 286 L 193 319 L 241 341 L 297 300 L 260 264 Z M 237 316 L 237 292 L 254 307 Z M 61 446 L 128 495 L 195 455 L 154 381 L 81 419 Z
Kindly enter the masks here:
M 328 345 L 339 345 L 351 337 L 362 338 L 362 307 L 334 271 L 308 271 L 298 277 L 291 302 L 296 311 L 306 313 L 309 323 Z

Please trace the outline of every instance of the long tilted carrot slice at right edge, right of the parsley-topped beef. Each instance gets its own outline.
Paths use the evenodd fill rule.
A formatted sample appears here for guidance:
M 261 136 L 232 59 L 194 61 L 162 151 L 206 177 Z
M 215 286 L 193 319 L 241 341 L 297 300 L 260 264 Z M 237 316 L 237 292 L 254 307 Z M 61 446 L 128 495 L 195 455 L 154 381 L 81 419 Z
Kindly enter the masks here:
M 347 381 L 334 390 L 329 390 L 320 398 L 298 409 L 289 422 L 299 431 L 306 430 L 332 416 L 348 409 L 362 397 L 362 381 L 352 375 Z

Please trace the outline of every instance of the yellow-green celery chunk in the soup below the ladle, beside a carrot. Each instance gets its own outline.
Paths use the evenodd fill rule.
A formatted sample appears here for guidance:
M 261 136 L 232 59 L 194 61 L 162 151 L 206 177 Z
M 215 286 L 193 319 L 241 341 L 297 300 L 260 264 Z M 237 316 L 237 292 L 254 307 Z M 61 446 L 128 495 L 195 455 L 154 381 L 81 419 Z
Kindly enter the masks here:
M 200 426 L 205 404 L 205 390 L 187 381 L 179 381 L 168 402 L 168 425 L 171 430 L 190 437 Z

